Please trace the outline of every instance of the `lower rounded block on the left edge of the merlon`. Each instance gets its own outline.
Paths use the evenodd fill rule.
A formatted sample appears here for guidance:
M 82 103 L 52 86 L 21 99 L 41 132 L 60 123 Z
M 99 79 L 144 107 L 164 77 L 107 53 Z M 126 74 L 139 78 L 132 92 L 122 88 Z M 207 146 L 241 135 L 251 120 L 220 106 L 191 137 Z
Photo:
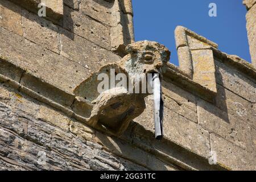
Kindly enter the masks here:
M 181 71 L 183 71 L 189 78 L 193 78 L 193 64 L 189 47 L 179 47 L 177 49 L 177 55 Z

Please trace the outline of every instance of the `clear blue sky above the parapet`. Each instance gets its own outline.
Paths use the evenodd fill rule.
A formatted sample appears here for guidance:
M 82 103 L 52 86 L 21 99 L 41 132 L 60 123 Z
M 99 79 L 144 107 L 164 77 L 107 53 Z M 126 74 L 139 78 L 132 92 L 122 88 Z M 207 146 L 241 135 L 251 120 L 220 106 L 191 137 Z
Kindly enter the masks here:
M 210 3 L 217 5 L 217 17 L 210 17 Z M 230 55 L 251 62 L 246 32 L 246 8 L 242 0 L 133 0 L 135 40 L 152 40 L 172 52 L 178 65 L 174 30 L 189 28 L 218 44 Z

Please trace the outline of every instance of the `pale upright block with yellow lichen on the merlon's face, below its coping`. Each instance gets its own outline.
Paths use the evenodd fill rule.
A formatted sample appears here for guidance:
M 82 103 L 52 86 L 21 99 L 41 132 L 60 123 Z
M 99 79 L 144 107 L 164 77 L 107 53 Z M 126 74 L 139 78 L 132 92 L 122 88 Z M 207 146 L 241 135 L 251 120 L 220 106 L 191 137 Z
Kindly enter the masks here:
M 210 49 L 191 51 L 193 60 L 193 81 L 217 92 L 213 52 Z

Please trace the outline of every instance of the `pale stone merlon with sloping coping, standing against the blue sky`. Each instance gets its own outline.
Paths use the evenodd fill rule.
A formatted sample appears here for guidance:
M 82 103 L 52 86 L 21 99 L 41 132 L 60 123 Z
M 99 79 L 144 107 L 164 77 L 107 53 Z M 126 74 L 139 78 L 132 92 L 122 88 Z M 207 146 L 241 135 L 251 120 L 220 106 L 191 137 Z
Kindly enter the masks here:
M 175 30 L 175 39 L 181 71 L 188 78 L 217 93 L 212 49 L 217 49 L 218 45 L 181 26 Z

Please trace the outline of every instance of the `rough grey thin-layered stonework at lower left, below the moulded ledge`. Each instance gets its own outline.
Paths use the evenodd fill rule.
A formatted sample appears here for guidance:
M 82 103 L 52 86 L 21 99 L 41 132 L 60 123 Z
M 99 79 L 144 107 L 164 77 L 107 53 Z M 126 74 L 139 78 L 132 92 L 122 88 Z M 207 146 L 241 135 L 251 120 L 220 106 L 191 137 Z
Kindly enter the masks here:
M 38 104 L 39 102 L 33 103 L 33 105 Z M 37 107 L 39 108 L 39 105 Z M 16 170 L 146 169 L 136 163 L 113 156 L 110 152 L 102 151 L 102 147 L 98 147 L 97 143 L 80 140 L 79 136 L 83 136 L 85 132 L 94 133 L 83 124 L 72 122 L 72 129 L 84 132 L 77 133 L 75 137 L 65 127 L 68 123 L 63 121 L 65 117 L 63 118 L 62 114 L 52 113 L 54 110 L 50 111 L 46 106 L 40 106 L 40 110 L 39 119 L 36 119 L 30 114 L 30 110 L 22 111 L 20 108 L 14 109 L 13 106 L 0 104 L 0 167 L 2 169 L 7 167 Z M 102 136 L 106 138 L 105 135 L 102 134 Z M 133 153 L 134 147 L 120 143 L 119 140 L 115 141 L 123 150 L 123 156 L 132 156 L 136 162 L 139 160 L 147 163 L 146 153 L 140 150 L 137 151 L 142 152 L 141 155 L 139 152 Z M 46 164 L 38 164 L 39 152 L 45 152 Z M 140 156 L 144 156 L 145 160 L 139 159 Z

